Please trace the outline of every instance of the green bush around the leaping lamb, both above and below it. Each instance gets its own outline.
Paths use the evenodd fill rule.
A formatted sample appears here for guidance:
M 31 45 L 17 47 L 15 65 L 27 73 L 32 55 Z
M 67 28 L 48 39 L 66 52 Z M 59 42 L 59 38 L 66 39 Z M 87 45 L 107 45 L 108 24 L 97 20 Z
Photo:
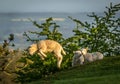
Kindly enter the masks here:
M 71 43 L 73 40 L 63 38 L 62 34 L 58 31 L 60 26 L 57 25 L 51 17 L 46 19 L 46 21 L 42 24 L 38 24 L 36 21 L 32 21 L 31 19 L 30 21 L 39 29 L 39 31 L 29 31 L 29 33 L 35 34 L 39 38 L 33 39 L 26 32 L 24 32 L 24 36 L 27 37 L 27 41 L 37 42 L 41 40 L 41 38 L 44 38 L 55 40 L 61 45 L 64 45 L 63 48 L 67 52 L 67 55 L 63 56 L 63 62 L 60 70 L 69 68 L 71 66 L 73 56 L 72 50 L 76 50 L 78 48 L 74 43 Z M 57 68 L 56 58 L 51 53 L 47 53 L 47 58 L 44 61 L 41 60 L 37 54 L 30 56 L 28 53 L 25 53 L 25 55 L 27 57 L 22 58 L 20 61 L 27 64 L 26 61 L 29 59 L 33 61 L 33 63 L 16 72 L 19 75 L 17 80 L 20 82 L 24 83 L 33 81 L 34 79 L 46 77 L 49 74 L 59 71 Z

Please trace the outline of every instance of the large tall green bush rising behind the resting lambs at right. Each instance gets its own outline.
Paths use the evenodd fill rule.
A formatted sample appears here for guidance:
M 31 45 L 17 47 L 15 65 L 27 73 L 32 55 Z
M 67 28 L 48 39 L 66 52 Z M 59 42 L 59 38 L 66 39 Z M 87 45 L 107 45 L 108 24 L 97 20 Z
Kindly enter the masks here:
M 119 55 L 120 17 L 116 17 L 116 13 L 120 13 L 120 3 L 116 5 L 111 3 L 110 7 L 106 8 L 103 16 L 98 16 L 94 12 L 88 15 L 94 18 L 92 23 L 69 17 L 77 24 L 73 30 L 74 37 L 78 39 L 78 45 L 89 47 L 91 52 L 100 51 L 106 56 Z

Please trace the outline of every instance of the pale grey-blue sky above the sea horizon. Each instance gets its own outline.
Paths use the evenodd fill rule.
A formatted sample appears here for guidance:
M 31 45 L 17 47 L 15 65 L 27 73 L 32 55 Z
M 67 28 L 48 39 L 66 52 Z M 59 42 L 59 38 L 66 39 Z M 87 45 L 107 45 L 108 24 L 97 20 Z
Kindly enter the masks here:
M 0 12 L 101 12 L 120 0 L 0 0 Z

